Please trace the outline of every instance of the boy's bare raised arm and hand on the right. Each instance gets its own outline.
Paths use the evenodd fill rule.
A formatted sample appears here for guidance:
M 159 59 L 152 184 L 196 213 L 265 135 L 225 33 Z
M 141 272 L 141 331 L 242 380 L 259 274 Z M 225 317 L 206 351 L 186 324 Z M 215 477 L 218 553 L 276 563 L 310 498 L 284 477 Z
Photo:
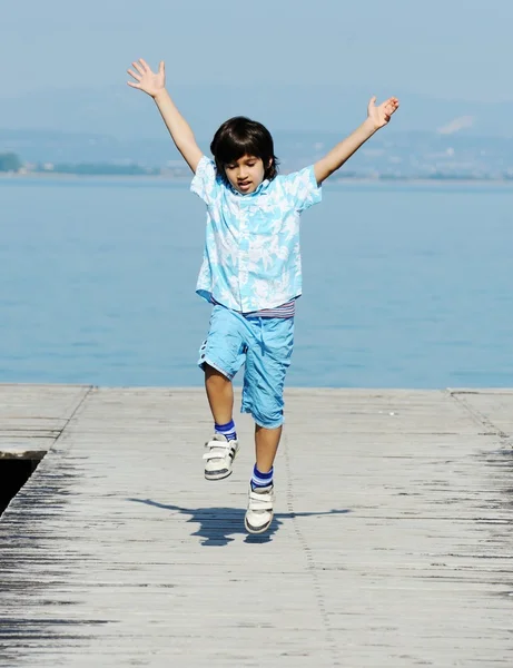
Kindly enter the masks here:
M 324 158 L 315 163 L 314 173 L 317 184 L 320 185 L 324 179 L 342 167 L 376 130 L 386 126 L 392 114 L 397 111 L 398 106 L 398 99 L 392 97 L 377 107 L 376 98 L 373 97 L 368 102 L 367 119 L 359 128 L 341 141 L 341 144 L 337 144 L 335 148 L 332 148 Z

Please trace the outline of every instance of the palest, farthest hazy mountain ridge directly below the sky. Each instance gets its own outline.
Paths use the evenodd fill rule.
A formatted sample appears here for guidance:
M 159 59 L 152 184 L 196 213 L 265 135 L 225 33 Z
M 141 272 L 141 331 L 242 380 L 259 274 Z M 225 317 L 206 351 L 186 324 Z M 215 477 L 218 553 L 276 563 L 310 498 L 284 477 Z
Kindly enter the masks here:
M 387 88 L 169 86 L 199 138 L 211 138 L 224 120 L 238 115 L 260 120 L 273 134 L 334 132 L 342 138 L 365 119 L 372 95 L 378 101 L 389 95 L 399 98 L 401 109 L 391 124 L 394 132 L 513 137 L 510 102 L 433 99 Z M 0 94 L 0 127 L 110 135 L 122 140 L 160 139 L 166 134 L 148 96 L 128 88 L 122 79 L 119 86 L 107 88 L 48 88 L 17 97 Z

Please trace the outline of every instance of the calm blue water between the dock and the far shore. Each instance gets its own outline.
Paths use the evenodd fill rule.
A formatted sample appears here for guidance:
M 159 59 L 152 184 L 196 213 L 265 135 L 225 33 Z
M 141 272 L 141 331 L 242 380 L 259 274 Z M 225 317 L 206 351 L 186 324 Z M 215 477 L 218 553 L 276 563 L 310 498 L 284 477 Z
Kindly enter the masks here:
M 328 185 L 289 385 L 513 386 L 513 188 Z M 199 385 L 186 185 L 0 179 L 0 382 Z

